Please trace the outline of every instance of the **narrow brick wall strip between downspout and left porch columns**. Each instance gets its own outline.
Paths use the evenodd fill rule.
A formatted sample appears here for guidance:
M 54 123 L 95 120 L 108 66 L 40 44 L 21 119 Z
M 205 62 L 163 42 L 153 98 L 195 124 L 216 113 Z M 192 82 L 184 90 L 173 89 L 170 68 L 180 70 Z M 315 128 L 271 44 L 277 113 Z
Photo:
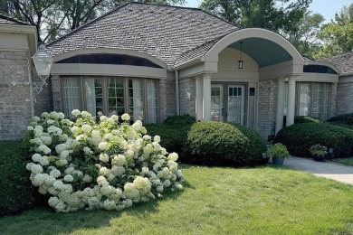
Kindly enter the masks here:
M 179 80 L 180 115 L 196 116 L 196 78 Z

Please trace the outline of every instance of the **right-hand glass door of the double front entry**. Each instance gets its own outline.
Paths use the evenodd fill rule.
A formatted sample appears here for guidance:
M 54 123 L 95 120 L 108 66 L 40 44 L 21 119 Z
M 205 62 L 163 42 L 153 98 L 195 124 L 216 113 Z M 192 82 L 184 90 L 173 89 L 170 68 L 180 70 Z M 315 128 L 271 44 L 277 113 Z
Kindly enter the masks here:
M 243 85 L 228 85 L 226 122 L 244 125 L 244 92 Z

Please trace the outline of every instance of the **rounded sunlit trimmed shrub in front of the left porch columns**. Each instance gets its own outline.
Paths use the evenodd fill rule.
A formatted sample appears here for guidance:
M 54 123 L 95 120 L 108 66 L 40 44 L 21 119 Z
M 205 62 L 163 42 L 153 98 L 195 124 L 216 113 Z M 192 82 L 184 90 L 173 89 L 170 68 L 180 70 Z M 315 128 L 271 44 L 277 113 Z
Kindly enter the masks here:
M 231 124 L 197 122 L 187 135 L 187 162 L 208 165 L 246 165 L 248 138 Z

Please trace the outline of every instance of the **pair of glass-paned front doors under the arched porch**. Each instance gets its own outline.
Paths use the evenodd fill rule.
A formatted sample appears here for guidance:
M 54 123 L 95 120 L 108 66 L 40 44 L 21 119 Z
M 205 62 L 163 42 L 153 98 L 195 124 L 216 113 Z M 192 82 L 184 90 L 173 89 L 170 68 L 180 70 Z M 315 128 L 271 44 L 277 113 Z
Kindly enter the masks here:
M 245 86 L 212 84 L 211 120 L 244 125 Z

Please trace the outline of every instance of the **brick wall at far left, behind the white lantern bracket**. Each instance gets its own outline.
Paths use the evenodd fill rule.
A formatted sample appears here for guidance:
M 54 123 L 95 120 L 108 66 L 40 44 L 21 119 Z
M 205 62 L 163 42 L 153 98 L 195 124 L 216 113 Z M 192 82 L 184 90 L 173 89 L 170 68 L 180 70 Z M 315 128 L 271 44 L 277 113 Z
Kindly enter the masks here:
M 29 85 L 11 82 L 29 81 L 27 52 L 0 51 L 0 140 L 22 136 L 32 118 Z

